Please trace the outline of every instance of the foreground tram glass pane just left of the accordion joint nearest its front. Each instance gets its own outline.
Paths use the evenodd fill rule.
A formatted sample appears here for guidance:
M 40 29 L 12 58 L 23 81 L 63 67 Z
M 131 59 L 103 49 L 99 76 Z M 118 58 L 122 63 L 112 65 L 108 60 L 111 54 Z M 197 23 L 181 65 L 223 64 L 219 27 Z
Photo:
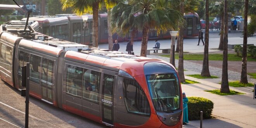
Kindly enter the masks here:
M 42 85 L 52 87 L 54 61 L 43 58 L 42 63 Z

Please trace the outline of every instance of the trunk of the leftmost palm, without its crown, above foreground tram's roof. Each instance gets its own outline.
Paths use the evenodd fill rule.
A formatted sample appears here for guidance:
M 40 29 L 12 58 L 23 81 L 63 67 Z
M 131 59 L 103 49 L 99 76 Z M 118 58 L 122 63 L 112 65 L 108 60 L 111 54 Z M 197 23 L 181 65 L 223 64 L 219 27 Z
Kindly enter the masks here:
M 93 47 L 98 47 L 98 13 L 99 13 L 99 2 L 95 2 L 92 6 L 93 16 L 92 16 L 92 45 Z

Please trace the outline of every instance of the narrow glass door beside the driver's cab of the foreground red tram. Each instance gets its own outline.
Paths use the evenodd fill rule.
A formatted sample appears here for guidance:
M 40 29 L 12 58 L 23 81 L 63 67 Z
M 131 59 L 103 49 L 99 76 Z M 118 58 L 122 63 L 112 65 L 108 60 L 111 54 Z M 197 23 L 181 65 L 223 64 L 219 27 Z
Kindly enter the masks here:
M 102 122 L 107 125 L 113 125 L 113 86 L 114 76 L 103 75 L 102 84 Z

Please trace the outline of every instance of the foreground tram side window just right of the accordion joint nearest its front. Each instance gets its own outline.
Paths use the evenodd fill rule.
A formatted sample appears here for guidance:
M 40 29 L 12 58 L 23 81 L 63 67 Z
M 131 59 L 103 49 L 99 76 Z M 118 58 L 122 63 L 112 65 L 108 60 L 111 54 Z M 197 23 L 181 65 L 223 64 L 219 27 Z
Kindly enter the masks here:
M 83 68 L 67 65 L 66 93 L 81 97 Z

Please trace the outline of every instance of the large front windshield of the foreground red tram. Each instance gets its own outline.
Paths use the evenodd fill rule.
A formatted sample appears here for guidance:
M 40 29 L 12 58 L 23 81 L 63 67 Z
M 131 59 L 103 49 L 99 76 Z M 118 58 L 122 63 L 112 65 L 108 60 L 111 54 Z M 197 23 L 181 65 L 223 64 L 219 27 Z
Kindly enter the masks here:
M 172 112 L 180 107 L 179 82 L 176 73 L 146 75 L 155 110 Z

